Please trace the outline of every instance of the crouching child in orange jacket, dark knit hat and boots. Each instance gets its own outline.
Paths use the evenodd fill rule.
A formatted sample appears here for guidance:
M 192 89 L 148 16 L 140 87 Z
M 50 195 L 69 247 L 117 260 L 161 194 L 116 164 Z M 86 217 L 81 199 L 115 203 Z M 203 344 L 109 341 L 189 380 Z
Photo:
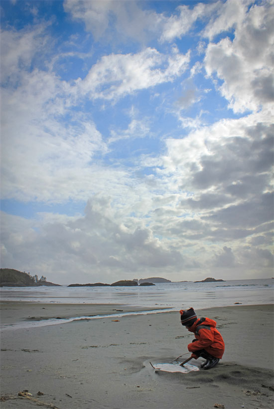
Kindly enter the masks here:
M 192 352 L 192 358 L 202 357 L 206 360 L 201 365 L 203 369 L 215 367 L 225 351 L 225 343 L 216 329 L 216 322 L 210 318 L 197 318 L 193 308 L 180 310 L 181 324 L 188 331 L 195 334 L 195 339 L 188 344 L 188 351 Z

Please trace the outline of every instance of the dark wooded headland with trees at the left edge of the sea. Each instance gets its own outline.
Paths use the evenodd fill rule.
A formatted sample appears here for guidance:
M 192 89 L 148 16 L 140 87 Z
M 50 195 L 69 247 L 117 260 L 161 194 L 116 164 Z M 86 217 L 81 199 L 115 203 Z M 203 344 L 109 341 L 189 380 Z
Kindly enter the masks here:
M 39 287 L 59 286 L 46 280 L 43 275 L 38 279 L 38 275 L 30 275 L 25 271 L 14 270 L 13 268 L 0 268 L 0 287 Z

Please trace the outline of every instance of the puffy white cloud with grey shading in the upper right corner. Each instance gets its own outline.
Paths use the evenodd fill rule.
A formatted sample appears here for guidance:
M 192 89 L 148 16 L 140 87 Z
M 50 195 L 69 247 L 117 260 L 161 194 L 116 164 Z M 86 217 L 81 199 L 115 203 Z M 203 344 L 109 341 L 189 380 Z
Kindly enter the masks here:
M 238 2 L 227 2 L 236 6 Z M 235 38 L 210 43 L 205 56 L 208 75 L 223 80 L 221 94 L 235 112 L 257 111 L 273 102 L 273 13 L 253 5 L 237 23 Z M 234 15 L 234 14 L 232 14 Z M 241 14 L 242 15 L 242 14 Z M 216 27 L 215 27 L 216 28 Z M 214 33 L 218 30 L 214 29 Z

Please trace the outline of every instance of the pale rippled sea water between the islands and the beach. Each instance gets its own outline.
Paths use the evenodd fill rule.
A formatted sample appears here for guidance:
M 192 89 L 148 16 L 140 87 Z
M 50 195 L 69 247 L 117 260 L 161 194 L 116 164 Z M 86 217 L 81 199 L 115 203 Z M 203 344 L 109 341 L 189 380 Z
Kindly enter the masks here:
M 2 287 L 1 301 L 42 303 L 124 304 L 131 307 L 195 309 L 273 304 L 274 279 L 228 280 L 211 283 L 172 282 L 134 287 Z

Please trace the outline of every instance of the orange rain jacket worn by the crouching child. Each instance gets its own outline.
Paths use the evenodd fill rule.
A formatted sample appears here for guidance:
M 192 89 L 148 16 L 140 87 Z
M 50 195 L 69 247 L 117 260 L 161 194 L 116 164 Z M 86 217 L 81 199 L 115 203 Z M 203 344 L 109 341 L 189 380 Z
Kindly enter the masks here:
M 193 358 L 198 358 L 195 351 L 204 349 L 209 354 L 221 359 L 225 352 L 225 343 L 222 335 L 216 329 L 216 322 L 210 318 L 199 318 L 188 328 L 194 332 L 198 341 L 188 344 L 188 351 L 193 353 Z

